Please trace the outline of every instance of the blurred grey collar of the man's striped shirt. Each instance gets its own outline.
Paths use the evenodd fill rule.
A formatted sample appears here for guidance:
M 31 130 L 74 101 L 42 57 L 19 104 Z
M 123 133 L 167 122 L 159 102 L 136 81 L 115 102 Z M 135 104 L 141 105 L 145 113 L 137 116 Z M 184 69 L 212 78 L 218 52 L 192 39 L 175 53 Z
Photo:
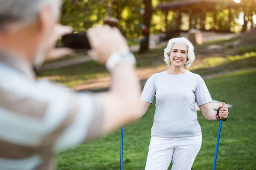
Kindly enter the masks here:
M 29 62 L 8 52 L 0 51 L 0 62 L 24 74 L 29 79 L 35 79 L 35 70 Z

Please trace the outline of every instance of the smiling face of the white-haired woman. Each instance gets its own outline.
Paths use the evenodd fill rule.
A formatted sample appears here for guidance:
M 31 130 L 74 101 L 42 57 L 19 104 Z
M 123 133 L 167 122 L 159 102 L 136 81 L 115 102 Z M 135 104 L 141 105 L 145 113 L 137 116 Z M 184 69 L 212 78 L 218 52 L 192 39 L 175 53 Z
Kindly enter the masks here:
M 188 61 L 188 48 L 183 43 L 175 43 L 169 54 L 172 67 L 183 68 Z

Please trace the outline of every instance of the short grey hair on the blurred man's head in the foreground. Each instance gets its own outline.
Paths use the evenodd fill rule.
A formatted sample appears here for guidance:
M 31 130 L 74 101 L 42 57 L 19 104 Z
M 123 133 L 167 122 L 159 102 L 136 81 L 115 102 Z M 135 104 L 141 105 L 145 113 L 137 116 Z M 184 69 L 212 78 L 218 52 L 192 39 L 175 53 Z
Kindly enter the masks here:
M 53 17 L 57 17 L 61 0 L 0 0 L 0 30 L 7 24 L 32 23 L 46 4 L 52 6 Z

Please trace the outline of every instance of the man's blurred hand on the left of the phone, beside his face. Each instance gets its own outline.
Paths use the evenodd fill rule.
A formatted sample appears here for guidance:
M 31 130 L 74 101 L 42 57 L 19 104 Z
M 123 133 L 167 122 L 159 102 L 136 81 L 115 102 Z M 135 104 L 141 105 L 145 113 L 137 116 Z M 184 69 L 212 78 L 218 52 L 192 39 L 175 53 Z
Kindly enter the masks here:
M 53 59 L 58 59 L 64 56 L 70 56 L 73 54 L 73 50 L 71 48 L 55 48 L 55 43 L 56 41 L 64 36 L 65 34 L 70 34 L 72 33 L 73 28 L 70 26 L 62 26 L 61 24 L 57 24 L 55 26 L 55 30 L 53 31 L 53 34 L 51 36 L 51 39 L 49 40 L 49 48 L 50 49 L 47 53 L 46 56 L 46 61 L 47 60 L 53 60 Z M 53 48 L 52 48 L 53 47 Z

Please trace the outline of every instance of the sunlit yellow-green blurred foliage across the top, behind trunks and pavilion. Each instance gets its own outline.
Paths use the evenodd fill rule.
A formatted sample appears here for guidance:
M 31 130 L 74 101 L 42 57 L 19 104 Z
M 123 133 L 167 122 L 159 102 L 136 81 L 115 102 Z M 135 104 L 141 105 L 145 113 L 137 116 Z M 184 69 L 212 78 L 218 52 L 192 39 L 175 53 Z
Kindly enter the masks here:
M 154 12 L 151 19 L 150 32 L 157 34 L 166 31 L 165 18 L 166 14 L 163 11 L 157 10 L 156 6 L 161 2 L 170 2 L 172 0 L 152 0 Z M 108 2 L 105 0 L 99 3 L 99 0 L 63 0 L 62 15 L 60 22 L 64 25 L 74 27 L 75 31 L 86 31 L 95 24 L 102 24 L 102 19 L 106 17 L 106 9 Z M 122 33 L 127 38 L 138 38 L 142 35 L 140 24 L 143 23 L 143 18 L 140 14 L 140 8 L 143 6 L 143 0 L 117 0 L 112 6 L 112 16 L 119 20 L 119 27 Z M 241 11 L 232 10 L 231 31 L 241 31 L 241 25 L 237 23 L 236 19 L 239 17 Z M 182 13 L 183 23 L 181 29 L 189 29 L 189 16 Z M 229 26 L 229 11 L 227 9 L 218 11 L 217 24 L 218 29 L 227 30 Z M 200 17 L 200 15 L 198 15 Z M 172 29 L 172 22 L 175 19 L 175 13 L 170 11 L 168 14 L 167 29 Z M 199 18 L 198 18 L 199 20 Z M 213 14 L 207 12 L 205 28 L 207 30 L 213 28 Z

